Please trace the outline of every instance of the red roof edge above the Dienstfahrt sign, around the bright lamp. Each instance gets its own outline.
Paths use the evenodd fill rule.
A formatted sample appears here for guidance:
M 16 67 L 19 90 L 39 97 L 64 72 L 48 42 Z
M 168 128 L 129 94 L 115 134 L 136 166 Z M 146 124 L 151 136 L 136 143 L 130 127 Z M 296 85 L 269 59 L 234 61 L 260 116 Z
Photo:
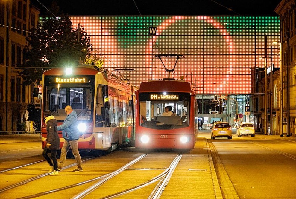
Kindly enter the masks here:
M 66 68 L 52 68 L 44 71 L 44 75 L 65 75 Z M 99 71 L 88 67 L 74 67 L 72 68 L 72 75 L 95 75 Z

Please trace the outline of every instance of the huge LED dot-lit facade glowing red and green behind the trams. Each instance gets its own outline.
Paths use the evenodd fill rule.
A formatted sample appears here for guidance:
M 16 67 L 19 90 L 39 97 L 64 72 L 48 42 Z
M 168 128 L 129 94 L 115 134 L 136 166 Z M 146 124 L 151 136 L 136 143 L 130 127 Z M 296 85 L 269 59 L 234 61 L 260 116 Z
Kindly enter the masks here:
M 271 16 L 72 16 L 73 26 L 86 28 L 104 67 L 133 68 L 130 82 L 167 78 L 155 54 L 182 54 L 171 77 L 196 82 L 199 94 L 248 94 L 251 68 L 264 67 L 265 34 L 271 44 L 279 40 L 280 20 Z M 157 35 L 148 35 L 157 27 Z M 273 62 L 279 67 L 278 45 Z M 270 65 L 268 58 L 268 66 Z M 163 60 L 173 65 L 175 60 Z M 196 81 L 195 81 L 196 80 Z

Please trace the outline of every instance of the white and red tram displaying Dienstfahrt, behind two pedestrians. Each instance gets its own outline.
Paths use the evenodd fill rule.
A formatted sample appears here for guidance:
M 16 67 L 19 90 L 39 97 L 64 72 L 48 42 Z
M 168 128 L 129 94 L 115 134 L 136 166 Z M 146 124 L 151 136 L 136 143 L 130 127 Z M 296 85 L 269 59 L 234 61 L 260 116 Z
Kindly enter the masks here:
M 53 68 L 43 73 L 42 82 L 42 148 L 47 136 L 43 111 L 51 110 L 60 125 L 67 105 L 77 112 L 78 129 L 86 136 L 78 140 L 79 149 L 111 151 L 134 140 L 132 85 L 91 66 Z

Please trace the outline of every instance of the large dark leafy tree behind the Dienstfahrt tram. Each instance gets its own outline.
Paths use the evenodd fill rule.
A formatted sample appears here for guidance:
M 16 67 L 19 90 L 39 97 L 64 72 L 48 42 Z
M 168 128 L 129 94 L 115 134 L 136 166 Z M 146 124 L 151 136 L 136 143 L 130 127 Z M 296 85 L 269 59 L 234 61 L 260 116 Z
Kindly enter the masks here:
M 91 42 L 84 27 L 73 27 L 68 15 L 59 13 L 56 2 L 51 11 L 56 17 L 43 17 L 37 29 L 30 30 L 28 46 L 24 49 L 24 67 L 20 72 L 26 84 L 42 78 L 50 68 L 78 65 L 78 60 L 90 55 Z M 78 39 L 79 33 L 79 39 Z

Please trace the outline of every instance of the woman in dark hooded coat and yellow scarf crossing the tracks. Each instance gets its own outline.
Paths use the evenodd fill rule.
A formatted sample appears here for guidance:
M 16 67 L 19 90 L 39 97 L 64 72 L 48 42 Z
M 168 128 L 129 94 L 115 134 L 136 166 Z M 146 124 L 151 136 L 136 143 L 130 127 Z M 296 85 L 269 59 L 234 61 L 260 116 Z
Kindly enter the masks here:
M 48 173 L 50 175 L 58 175 L 59 172 L 57 171 L 57 150 L 60 149 L 60 138 L 57 134 L 57 120 L 51 114 L 51 111 L 44 111 L 43 112 L 47 130 L 47 143 L 43 150 L 43 157 L 51 166 Z M 50 153 L 50 157 L 48 156 Z M 52 160 L 52 162 L 51 162 Z

